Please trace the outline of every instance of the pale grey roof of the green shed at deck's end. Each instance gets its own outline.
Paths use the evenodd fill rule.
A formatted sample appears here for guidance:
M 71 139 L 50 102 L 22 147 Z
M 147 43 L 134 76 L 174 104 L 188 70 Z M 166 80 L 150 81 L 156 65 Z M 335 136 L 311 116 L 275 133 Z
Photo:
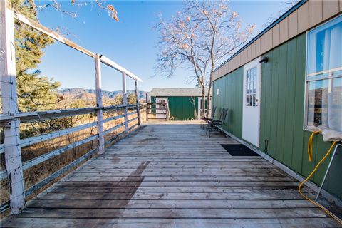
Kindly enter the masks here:
M 208 89 L 205 89 L 207 95 Z M 152 96 L 170 96 L 170 97 L 200 97 L 202 88 L 152 88 Z

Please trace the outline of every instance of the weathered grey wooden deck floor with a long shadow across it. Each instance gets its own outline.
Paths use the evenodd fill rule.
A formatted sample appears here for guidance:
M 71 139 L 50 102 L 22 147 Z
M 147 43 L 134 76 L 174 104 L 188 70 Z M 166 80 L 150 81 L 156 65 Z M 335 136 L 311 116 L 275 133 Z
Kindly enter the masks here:
M 1 227 L 339 227 L 299 182 L 220 143 L 237 142 L 198 124 L 143 125 Z

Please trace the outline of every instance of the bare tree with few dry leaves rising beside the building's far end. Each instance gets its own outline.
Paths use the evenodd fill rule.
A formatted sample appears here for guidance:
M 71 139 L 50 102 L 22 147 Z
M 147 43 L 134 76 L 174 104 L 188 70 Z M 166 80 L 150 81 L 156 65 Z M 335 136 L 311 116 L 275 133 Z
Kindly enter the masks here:
M 160 33 L 157 71 L 170 77 L 179 66 L 190 68 L 195 74 L 190 77 L 202 88 L 204 107 L 205 88 L 209 100 L 214 68 L 242 46 L 254 30 L 254 25 L 241 27 L 239 15 L 230 10 L 228 1 L 185 1 L 182 11 L 169 21 L 160 15 L 155 26 Z

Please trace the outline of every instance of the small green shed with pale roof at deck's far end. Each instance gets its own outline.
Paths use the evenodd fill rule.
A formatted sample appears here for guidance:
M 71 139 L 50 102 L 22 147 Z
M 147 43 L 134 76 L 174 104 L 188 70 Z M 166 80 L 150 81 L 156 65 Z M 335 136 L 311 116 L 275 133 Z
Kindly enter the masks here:
M 207 95 L 207 93 L 208 90 L 205 94 Z M 200 116 L 201 88 L 153 88 L 150 97 L 152 103 L 167 103 L 170 120 L 195 120 Z M 162 115 L 162 113 L 158 113 L 158 109 L 156 114 Z

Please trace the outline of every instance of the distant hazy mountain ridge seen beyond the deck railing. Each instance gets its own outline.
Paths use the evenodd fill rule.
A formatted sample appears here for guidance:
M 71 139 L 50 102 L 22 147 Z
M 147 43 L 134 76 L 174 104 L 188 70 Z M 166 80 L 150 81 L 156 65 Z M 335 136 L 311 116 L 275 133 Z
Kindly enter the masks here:
M 60 93 L 61 95 L 68 94 L 73 97 L 80 98 L 83 96 L 91 97 L 96 94 L 96 91 L 93 89 L 86 89 L 86 88 L 62 88 L 61 90 L 58 90 L 58 93 Z M 114 98 L 115 95 L 118 95 L 118 93 L 122 93 L 122 90 L 115 90 L 115 91 L 103 90 L 102 91 L 103 96 L 108 97 L 108 98 Z M 135 93 L 135 90 L 127 90 L 127 93 Z M 149 93 L 149 92 L 139 91 L 139 98 L 144 99 L 146 97 L 146 93 Z

